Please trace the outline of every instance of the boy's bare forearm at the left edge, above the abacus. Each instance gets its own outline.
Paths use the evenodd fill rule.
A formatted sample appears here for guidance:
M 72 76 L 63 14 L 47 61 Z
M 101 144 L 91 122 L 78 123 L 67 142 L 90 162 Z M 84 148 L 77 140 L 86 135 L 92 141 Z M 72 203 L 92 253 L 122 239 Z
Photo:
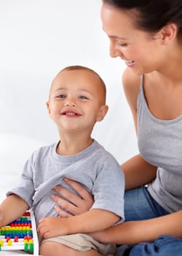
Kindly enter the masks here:
M 28 209 L 28 204 L 18 195 L 9 195 L 0 205 L 0 227 L 19 218 Z

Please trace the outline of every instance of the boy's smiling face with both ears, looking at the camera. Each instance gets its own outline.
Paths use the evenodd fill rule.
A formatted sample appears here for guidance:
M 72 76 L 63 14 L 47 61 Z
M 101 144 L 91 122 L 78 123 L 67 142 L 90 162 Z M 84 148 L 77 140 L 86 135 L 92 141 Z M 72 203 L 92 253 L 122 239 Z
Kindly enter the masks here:
M 56 76 L 47 108 L 60 132 L 87 130 L 89 133 L 108 110 L 100 79 L 85 69 L 65 69 Z

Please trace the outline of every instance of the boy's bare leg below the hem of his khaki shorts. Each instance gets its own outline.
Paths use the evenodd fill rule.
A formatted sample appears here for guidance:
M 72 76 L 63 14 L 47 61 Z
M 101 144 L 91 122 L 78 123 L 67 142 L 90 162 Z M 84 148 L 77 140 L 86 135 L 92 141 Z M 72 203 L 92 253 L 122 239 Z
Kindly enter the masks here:
M 58 244 L 55 242 L 44 242 L 40 246 L 41 256 L 102 256 L 94 249 L 89 251 L 79 252 L 66 245 Z

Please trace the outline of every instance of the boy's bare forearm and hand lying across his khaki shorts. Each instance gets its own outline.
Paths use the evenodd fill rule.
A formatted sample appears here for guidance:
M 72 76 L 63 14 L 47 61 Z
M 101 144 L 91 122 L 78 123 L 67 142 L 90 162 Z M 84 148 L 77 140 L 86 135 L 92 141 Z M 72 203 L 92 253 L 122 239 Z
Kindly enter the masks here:
M 40 219 L 37 230 L 44 238 L 74 233 L 91 233 L 105 230 L 119 219 L 120 217 L 111 211 L 92 209 L 69 218 L 46 217 Z

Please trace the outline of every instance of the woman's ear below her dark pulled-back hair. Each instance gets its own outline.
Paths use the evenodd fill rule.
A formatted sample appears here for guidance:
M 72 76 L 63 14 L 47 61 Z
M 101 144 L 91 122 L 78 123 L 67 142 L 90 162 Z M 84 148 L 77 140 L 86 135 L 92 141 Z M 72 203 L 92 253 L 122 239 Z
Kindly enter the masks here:
M 168 45 L 173 39 L 175 38 L 177 34 L 178 28 L 175 25 L 175 23 L 169 23 L 158 32 L 160 35 L 160 38 L 162 39 L 163 45 Z M 158 34 L 157 33 L 157 34 Z

